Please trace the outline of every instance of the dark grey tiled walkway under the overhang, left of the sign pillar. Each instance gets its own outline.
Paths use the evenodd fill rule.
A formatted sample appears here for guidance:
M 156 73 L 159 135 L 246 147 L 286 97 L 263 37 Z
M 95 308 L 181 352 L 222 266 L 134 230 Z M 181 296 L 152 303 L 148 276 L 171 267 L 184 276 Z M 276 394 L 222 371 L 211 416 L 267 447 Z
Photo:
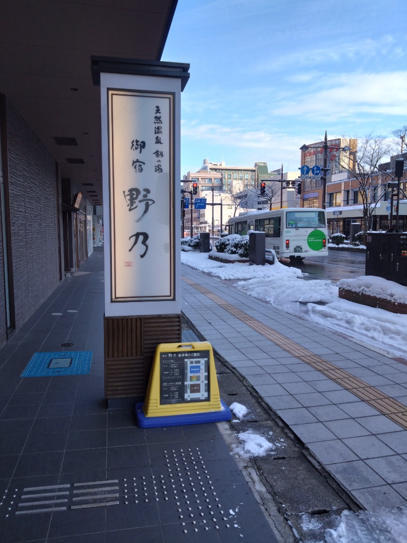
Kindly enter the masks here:
M 216 424 L 144 430 L 107 410 L 103 292 L 96 249 L 0 350 L 1 542 L 232 543 L 256 526 L 276 543 Z M 54 374 L 21 377 L 42 352 L 31 375 Z

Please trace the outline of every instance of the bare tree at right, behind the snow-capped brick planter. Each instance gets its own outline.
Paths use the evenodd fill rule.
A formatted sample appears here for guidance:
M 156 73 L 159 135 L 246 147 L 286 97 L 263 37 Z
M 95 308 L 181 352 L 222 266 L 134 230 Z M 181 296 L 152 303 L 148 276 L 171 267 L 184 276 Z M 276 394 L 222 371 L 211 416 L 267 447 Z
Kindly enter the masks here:
M 357 181 L 362 204 L 364 243 L 366 243 L 366 232 L 372 222 L 374 210 L 387 190 L 387 172 L 381 171 L 379 166 L 390 156 L 392 144 L 389 138 L 369 134 L 358 139 L 357 151 L 350 151 L 349 162 L 341 164 L 348 178 Z

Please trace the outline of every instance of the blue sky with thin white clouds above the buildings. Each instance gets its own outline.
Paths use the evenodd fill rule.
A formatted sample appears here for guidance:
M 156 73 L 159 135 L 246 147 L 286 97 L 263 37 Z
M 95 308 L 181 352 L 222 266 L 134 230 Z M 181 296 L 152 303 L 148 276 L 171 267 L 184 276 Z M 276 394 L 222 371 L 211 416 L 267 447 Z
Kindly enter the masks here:
M 406 0 L 179 0 L 181 175 L 203 159 L 300 167 L 303 143 L 407 124 Z

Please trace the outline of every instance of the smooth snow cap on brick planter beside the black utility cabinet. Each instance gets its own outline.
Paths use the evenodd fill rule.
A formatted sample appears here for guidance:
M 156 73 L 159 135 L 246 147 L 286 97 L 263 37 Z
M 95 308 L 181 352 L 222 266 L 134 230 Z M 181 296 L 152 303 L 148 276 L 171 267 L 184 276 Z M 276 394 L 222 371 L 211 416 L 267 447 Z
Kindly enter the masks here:
M 377 298 L 385 298 L 397 304 L 407 304 L 407 288 L 393 281 L 387 281 L 382 277 L 365 275 L 355 279 L 341 279 L 339 288 L 346 288 L 352 292 L 362 292 Z

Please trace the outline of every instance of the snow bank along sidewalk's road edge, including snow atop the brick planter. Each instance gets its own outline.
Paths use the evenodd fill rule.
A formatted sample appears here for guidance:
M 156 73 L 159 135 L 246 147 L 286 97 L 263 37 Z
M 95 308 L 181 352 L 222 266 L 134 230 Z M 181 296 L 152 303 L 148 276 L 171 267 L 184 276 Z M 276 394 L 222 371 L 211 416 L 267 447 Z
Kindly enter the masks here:
M 330 281 L 306 280 L 301 270 L 288 268 L 278 261 L 272 266 L 221 263 L 200 252 L 181 252 L 181 261 L 219 279 L 236 279 L 235 286 L 241 291 L 268 301 L 278 309 L 345 333 L 392 356 L 407 356 L 407 315 L 341 300 L 338 285 Z M 353 290 L 364 286 L 366 292 L 384 292 L 395 301 L 407 298 L 405 287 L 378 277 L 362 276 L 341 280 L 339 284 L 347 286 L 351 281 L 358 281 Z

